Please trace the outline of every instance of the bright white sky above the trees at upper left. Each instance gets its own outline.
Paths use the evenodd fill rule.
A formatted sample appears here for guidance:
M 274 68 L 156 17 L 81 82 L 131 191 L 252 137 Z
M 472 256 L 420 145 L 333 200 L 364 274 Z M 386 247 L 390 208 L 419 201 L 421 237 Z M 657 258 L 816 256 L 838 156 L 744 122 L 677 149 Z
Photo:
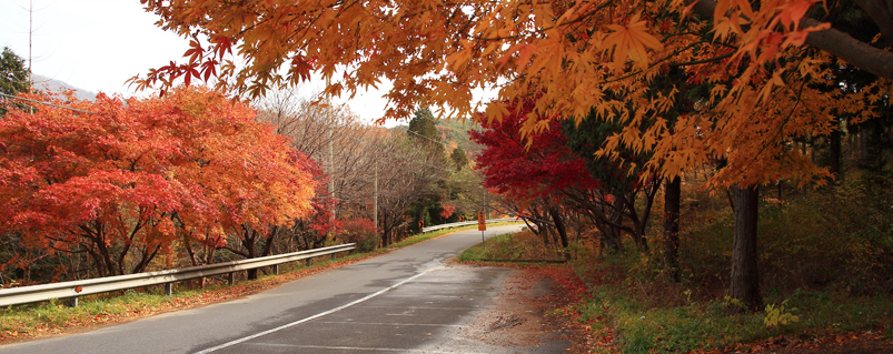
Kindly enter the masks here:
M 139 0 L 0 0 L 0 47 L 26 60 L 30 3 L 34 9 L 33 73 L 79 89 L 141 95 L 125 81 L 171 60 L 181 62 L 188 49 L 187 40 L 155 26 L 156 16 L 145 12 Z M 301 92 L 309 99 L 323 87 L 323 82 L 310 82 Z M 371 122 L 384 114 L 387 101 L 380 92 L 370 91 L 346 103 Z

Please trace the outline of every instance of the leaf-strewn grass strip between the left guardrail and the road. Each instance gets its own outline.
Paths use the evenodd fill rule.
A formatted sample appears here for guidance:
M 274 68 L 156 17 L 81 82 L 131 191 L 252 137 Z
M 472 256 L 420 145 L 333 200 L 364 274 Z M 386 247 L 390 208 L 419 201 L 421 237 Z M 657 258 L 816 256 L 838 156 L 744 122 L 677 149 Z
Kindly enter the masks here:
M 508 224 L 508 223 L 503 223 Z M 386 249 L 348 255 L 339 254 L 336 261 L 329 255 L 314 259 L 309 267 L 305 262 L 292 262 L 280 266 L 279 275 L 261 275 L 257 280 L 226 285 L 222 279 L 211 280 L 205 289 L 188 289 L 180 284 L 171 296 L 163 295 L 163 289 L 149 286 L 107 294 L 89 295 L 79 299 L 78 307 L 68 306 L 68 300 L 8 306 L 0 310 L 0 343 L 29 340 L 60 334 L 78 328 L 132 321 L 155 314 L 190 309 L 221 302 L 271 289 L 282 283 L 323 271 L 354 264 L 396 249 L 406 247 L 458 231 L 474 229 L 476 225 L 418 234 L 407 237 Z M 216 282 L 216 283 L 215 283 Z M 190 283 L 191 284 L 191 283 Z

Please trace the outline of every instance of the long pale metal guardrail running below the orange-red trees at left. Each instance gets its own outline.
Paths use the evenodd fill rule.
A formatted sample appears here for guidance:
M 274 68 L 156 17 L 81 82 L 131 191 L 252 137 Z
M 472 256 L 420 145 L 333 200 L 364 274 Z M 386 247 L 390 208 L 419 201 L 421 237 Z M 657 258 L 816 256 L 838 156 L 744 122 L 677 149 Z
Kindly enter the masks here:
M 28 304 L 28 303 L 48 301 L 51 299 L 66 299 L 66 297 L 72 299 L 71 303 L 72 306 L 77 306 L 78 296 L 113 292 L 119 290 L 128 290 L 148 285 L 158 285 L 158 284 L 165 284 L 165 293 L 170 295 L 171 284 L 175 282 L 228 273 L 230 275 L 229 281 L 230 283 L 232 283 L 234 272 L 272 265 L 276 266 L 278 273 L 278 265 L 282 263 L 300 261 L 300 260 L 307 260 L 309 263 L 309 259 L 329 254 L 331 254 L 331 257 L 335 259 L 336 253 L 353 251 L 356 249 L 357 249 L 356 243 L 347 243 L 316 250 L 269 255 L 264 257 L 239 260 L 239 261 L 231 261 L 217 264 L 190 266 L 177 270 L 97 277 L 82 281 L 50 283 L 50 284 L 41 284 L 32 286 L 0 289 L 0 306 Z

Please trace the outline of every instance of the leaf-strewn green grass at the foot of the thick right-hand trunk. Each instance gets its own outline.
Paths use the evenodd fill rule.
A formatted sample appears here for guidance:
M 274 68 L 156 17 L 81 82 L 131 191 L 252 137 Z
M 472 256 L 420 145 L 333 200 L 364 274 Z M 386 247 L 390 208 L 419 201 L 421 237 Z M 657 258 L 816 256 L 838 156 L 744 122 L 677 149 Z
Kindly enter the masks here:
M 578 274 L 591 286 L 592 300 L 582 304 L 581 321 L 593 333 L 609 333 L 596 352 L 675 353 L 731 350 L 785 336 L 821 337 L 830 333 L 881 330 L 891 324 L 893 302 L 886 295 L 852 296 L 841 292 L 795 291 L 788 297 L 766 295 L 765 304 L 780 306 L 798 317 L 767 327 L 766 311 L 730 312 L 725 300 L 698 300 L 679 284 L 661 280 L 624 277 L 625 259 L 605 256 L 575 262 Z M 604 276 L 611 274 L 609 276 Z M 890 333 L 885 334 L 887 338 Z M 750 343 L 750 344 L 746 344 Z

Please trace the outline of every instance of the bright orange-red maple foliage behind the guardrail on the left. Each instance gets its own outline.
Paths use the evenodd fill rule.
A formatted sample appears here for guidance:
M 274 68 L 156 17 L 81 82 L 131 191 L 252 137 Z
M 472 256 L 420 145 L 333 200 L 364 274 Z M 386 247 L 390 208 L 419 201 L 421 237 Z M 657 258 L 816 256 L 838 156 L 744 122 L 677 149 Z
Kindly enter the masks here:
M 136 273 L 177 243 L 240 235 L 250 247 L 309 211 L 299 154 L 218 93 L 53 102 L 77 110 L 11 110 L 0 122 L 2 232 L 28 246 L 85 252 L 99 276 Z

